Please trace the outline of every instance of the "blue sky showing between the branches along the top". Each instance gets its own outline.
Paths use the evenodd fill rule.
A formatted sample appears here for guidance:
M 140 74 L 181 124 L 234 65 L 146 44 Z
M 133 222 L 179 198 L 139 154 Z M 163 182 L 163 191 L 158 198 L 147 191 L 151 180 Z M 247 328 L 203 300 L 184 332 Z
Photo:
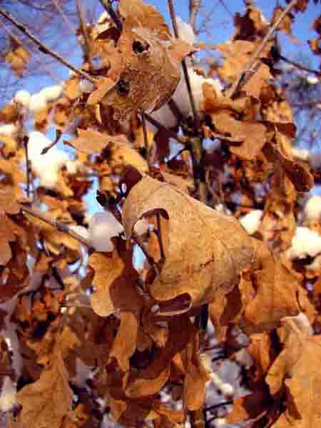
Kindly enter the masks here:
M 149 4 L 153 4 L 156 8 L 165 16 L 166 21 L 170 25 L 170 19 L 167 8 L 167 1 L 165 0 L 148 0 Z M 188 21 L 188 0 L 174 0 L 176 13 L 185 21 Z M 83 0 L 83 5 L 86 9 L 91 9 L 94 5 L 95 10 L 99 12 L 100 8 L 97 6 L 98 1 Z M 285 4 L 285 1 L 279 2 L 281 5 Z M 315 37 L 315 32 L 310 29 L 313 21 L 321 13 L 320 5 L 315 5 L 310 1 L 307 11 L 304 14 L 297 14 L 295 19 L 295 25 L 293 34 L 301 42 L 299 46 L 293 44 L 287 36 L 280 36 L 280 42 L 282 45 L 282 54 L 292 59 L 302 58 L 306 59 L 307 63 L 314 68 L 319 66 L 320 60 L 311 54 L 310 48 L 307 45 L 307 40 Z M 257 0 L 256 5 L 263 11 L 267 20 L 272 16 L 272 11 L 275 7 L 275 0 Z M 225 6 L 223 6 L 225 5 Z M 101 10 L 103 10 L 101 8 Z M 210 35 L 201 34 L 200 41 L 205 41 L 211 44 L 220 44 L 227 41 L 231 34 L 233 34 L 233 14 L 240 12 L 241 14 L 245 11 L 243 0 L 203 0 L 203 10 L 208 13 L 212 11 L 212 21 L 210 25 Z M 17 16 L 18 19 L 24 21 L 24 16 L 21 13 Z M 199 22 L 200 20 L 198 20 Z M 61 20 L 62 28 L 66 30 L 66 24 Z M 66 32 L 68 34 L 68 31 Z M 75 39 L 72 34 L 66 36 L 63 39 L 61 46 L 57 47 L 58 53 L 68 51 L 68 45 L 74 45 Z M 39 54 L 41 56 L 41 54 Z M 81 55 L 80 49 L 73 49 L 72 54 L 68 54 L 68 61 L 76 66 L 81 66 Z M 51 66 L 52 71 L 58 76 L 58 79 L 68 78 L 68 69 L 61 66 L 61 64 L 54 64 Z M 6 73 L 1 72 L 0 77 L 7 78 Z M 44 78 L 26 78 L 24 80 L 24 88 L 29 91 L 39 91 L 44 86 L 49 84 L 55 84 L 56 82 L 50 76 Z

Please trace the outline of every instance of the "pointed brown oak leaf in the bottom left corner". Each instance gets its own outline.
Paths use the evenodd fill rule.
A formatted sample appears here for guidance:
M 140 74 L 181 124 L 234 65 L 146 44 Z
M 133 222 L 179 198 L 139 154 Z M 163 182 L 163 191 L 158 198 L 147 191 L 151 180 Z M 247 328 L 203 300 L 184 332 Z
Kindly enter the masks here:
M 21 420 L 29 428 L 59 428 L 63 417 L 71 410 L 73 392 L 68 385 L 68 373 L 61 350 L 54 348 L 51 367 L 39 379 L 17 394 L 22 406 Z

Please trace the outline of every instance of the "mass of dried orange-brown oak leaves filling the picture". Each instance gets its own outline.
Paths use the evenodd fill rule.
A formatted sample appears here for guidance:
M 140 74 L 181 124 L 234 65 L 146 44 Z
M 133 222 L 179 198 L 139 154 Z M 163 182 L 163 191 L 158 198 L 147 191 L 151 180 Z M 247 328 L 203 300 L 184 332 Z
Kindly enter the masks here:
M 295 8 L 306 6 L 301 0 Z M 292 154 L 291 108 L 274 84 L 273 42 L 262 44 L 273 22 L 255 6 L 235 16 L 235 34 L 217 46 L 223 61 L 214 72 L 233 85 L 262 46 L 255 73 L 233 93 L 205 83 L 199 126 L 178 117 L 183 148 L 168 159 L 173 130 L 151 133 L 143 112 L 170 100 L 180 62 L 195 49 L 173 39 L 163 17 L 141 0 L 119 1 L 117 14 L 121 27 L 111 20 L 103 32 L 88 26 L 91 56 L 100 62 L 94 72 L 88 63 L 83 70 L 96 78 L 94 91 L 81 92 L 75 75 L 64 96 L 34 117 L 41 131 L 49 118 L 59 131 L 76 121 L 66 143 L 76 148 L 77 172 L 61 170 L 51 190 L 37 187 L 29 172 L 31 202 L 21 169 L 26 141 L 20 134 L 0 137 L 0 330 L 15 326 L 22 358 L 17 374 L 16 357 L 0 335 L 1 375 L 18 382 L 9 427 L 98 427 L 106 413 L 128 427 L 182 427 L 187 418 L 193 427 L 211 426 L 205 409 L 211 369 L 201 358 L 207 312 L 225 357 L 237 360 L 242 347 L 235 328 L 249 337 L 250 394 L 234 400 L 228 422 L 318 427 L 321 340 L 293 317 L 303 312 L 320 331 L 320 267 L 285 256 L 300 215 L 297 200 L 313 177 Z M 277 7 L 273 19 L 280 14 Z M 287 15 L 280 30 L 291 34 L 293 20 Z M 20 72 L 16 58 L 28 58 L 19 49 L 7 61 Z M 24 117 L 13 103 L 0 120 Z M 203 150 L 204 138 L 218 139 L 220 150 Z M 71 225 L 86 225 L 83 197 L 93 174 L 98 201 L 124 228 L 111 253 L 88 244 L 85 254 L 68 233 Z M 213 209 L 218 203 L 233 215 Z M 45 215 L 32 214 L 33 204 L 46 206 Z M 264 212 L 253 238 L 238 218 L 255 208 Z M 140 222 L 148 224 L 143 232 Z M 140 269 L 133 264 L 138 247 L 145 255 Z M 91 368 L 86 384 L 77 381 L 79 365 Z M 174 405 L 180 400 L 182 409 Z

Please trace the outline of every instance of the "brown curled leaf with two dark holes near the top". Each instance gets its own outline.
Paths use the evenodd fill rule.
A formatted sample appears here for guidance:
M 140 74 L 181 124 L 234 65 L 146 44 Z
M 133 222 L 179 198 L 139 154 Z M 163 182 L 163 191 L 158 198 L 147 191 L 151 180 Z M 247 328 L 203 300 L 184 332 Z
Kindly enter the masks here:
M 124 121 L 133 112 L 157 110 L 173 95 L 180 79 L 179 63 L 154 31 L 132 29 L 126 23 L 113 55 L 126 58 L 116 61 L 122 64 L 120 76 L 102 101 L 113 108 L 113 118 Z

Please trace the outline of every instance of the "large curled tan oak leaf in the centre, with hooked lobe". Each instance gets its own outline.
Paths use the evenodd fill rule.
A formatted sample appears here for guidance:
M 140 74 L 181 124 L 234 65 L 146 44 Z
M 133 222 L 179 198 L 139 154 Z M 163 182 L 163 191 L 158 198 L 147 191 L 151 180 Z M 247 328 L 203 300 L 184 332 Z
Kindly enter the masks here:
M 150 294 L 164 301 L 188 293 L 198 306 L 229 292 L 253 257 L 251 240 L 238 221 L 146 176 L 123 205 L 127 237 L 138 220 L 155 211 L 167 213 L 170 231 L 163 269 Z

